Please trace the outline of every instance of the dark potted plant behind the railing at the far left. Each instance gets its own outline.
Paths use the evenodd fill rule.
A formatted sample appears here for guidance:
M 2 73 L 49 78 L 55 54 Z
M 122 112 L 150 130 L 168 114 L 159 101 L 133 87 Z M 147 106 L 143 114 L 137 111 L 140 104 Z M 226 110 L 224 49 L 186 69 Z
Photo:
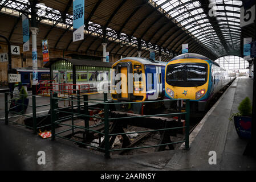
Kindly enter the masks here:
M 22 105 L 24 104 L 24 105 Z M 19 97 L 13 101 L 11 101 L 11 111 L 20 112 L 27 109 L 27 105 L 29 105 L 29 98 L 27 98 L 27 91 L 24 86 L 21 87 L 21 90 L 19 91 Z

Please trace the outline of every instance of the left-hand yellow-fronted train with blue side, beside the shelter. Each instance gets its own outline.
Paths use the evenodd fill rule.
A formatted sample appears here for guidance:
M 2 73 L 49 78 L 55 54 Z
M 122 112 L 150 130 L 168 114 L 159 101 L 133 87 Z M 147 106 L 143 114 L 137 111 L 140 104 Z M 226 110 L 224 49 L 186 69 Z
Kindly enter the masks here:
M 140 102 L 151 100 L 151 97 L 164 97 L 165 65 L 165 62 L 142 57 L 125 57 L 116 61 L 111 73 L 113 100 Z

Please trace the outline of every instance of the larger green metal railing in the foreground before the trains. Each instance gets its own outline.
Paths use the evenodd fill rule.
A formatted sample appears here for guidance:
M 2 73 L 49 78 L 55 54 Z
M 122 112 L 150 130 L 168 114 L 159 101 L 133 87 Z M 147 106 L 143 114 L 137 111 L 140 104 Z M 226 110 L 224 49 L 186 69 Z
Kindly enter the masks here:
M 121 117 L 121 118 L 110 118 L 110 111 L 109 107 L 111 105 L 116 105 L 116 104 L 138 104 L 138 103 L 150 103 L 150 102 L 166 102 L 166 101 L 178 101 L 178 100 L 158 100 L 158 101 L 144 101 L 144 102 L 120 102 L 120 103 L 111 103 L 108 102 L 107 100 L 107 94 L 104 93 L 104 99 L 99 100 L 99 99 L 88 99 L 87 94 L 82 95 L 77 95 L 77 96 L 67 96 L 65 98 L 58 98 L 56 97 L 56 93 L 53 93 L 53 97 L 51 97 L 51 133 L 52 133 L 52 140 L 54 141 L 56 137 L 71 140 L 72 142 L 77 142 L 80 144 L 83 144 L 85 146 L 90 146 L 99 149 L 100 151 L 104 151 L 105 153 L 105 158 L 110 158 L 110 152 L 112 151 L 120 151 L 120 150 L 131 150 L 131 149 L 137 149 L 137 148 L 149 148 L 149 147 L 158 147 L 158 146 L 166 146 L 169 144 L 177 144 L 177 143 L 183 143 L 185 142 L 185 149 L 189 149 L 189 113 L 190 113 L 190 104 L 189 100 L 183 100 L 186 102 L 185 106 L 185 112 L 180 112 L 180 113 L 167 113 L 167 114 L 152 114 L 152 115 L 137 115 L 137 116 L 132 116 L 132 117 Z M 83 100 L 81 98 L 83 97 Z M 58 108 L 58 104 L 62 101 L 70 101 L 72 103 L 71 106 L 68 107 L 62 107 Z M 100 101 L 100 102 L 99 102 Z M 180 101 L 180 100 L 179 100 Z M 77 105 L 74 105 L 74 102 L 77 103 Z M 81 104 L 82 102 L 82 104 Z M 103 105 L 103 113 L 100 114 L 94 114 L 90 115 L 89 114 L 89 109 L 99 109 L 97 107 L 91 107 L 89 104 L 101 104 Z M 81 110 L 81 107 L 84 107 L 83 110 Z M 74 107 L 77 109 L 77 112 L 74 112 Z M 57 109 L 58 108 L 58 109 Z M 65 109 L 71 109 L 71 111 L 67 111 Z M 58 118 L 59 113 L 65 113 L 68 114 L 66 118 Z M 100 117 L 101 114 L 104 114 L 104 118 Z M 177 129 L 184 129 L 185 128 L 185 139 L 178 141 L 178 142 L 171 142 L 171 143 L 165 143 L 165 144 L 157 144 L 154 146 L 143 146 L 143 147 L 130 147 L 130 148 L 117 148 L 117 149 L 111 149 L 109 146 L 109 138 L 112 136 L 116 135 L 126 135 L 126 134 L 133 134 L 133 133 L 115 133 L 115 134 L 109 134 L 109 122 L 115 121 L 115 119 L 128 119 L 128 118 L 145 118 L 145 117 L 162 117 L 166 115 L 185 115 L 185 126 L 181 127 L 172 127 L 172 128 L 165 128 L 165 129 L 157 129 L 157 130 L 147 130 L 147 131 L 136 131 L 134 133 L 147 133 L 147 132 L 156 132 L 156 131 L 166 131 L 166 130 L 177 130 Z M 83 126 L 78 126 L 74 125 L 74 118 L 83 118 L 84 119 L 84 127 Z M 101 119 L 101 121 L 98 124 L 89 126 L 89 119 L 90 118 L 97 118 Z M 71 125 L 67 123 L 62 123 L 63 121 L 70 121 L 72 119 Z M 104 125 L 104 133 L 94 130 L 94 127 Z M 55 133 L 56 126 L 68 126 L 70 129 L 59 131 L 58 133 Z M 90 131 L 93 133 L 99 134 L 99 136 L 104 136 L 104 148 L 99 147 L 99 146 L 92 146 L 91 144 L 85 143 L 85 142 L 79 142 L 77 140 L 63 137 L 60 134 L 65 133 L 66 131 L 71 131 L 72 134 L 74 134 L 74 129 L 82 129 L 84 130 L 85 135 L 87 135 Z M 100 138 L 100 137 L 99 137 Z

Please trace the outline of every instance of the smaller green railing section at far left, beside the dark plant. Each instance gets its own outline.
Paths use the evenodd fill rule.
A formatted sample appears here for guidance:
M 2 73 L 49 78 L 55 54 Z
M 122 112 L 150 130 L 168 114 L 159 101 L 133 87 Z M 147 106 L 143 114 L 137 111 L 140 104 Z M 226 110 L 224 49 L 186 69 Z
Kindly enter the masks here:
M 5 124 L 6 125 L 9 125 L 9 122 L 11 123 L 15 123 L 17 125 L 21 125 L 21 126 L 25 126 L 25 127 L 28 127 L 29 129 L 32 129 L 34 131 L 34 133 L 36 134 L 37 130 L 38 129 L 41 129 L 43 127 L 47 127 L 47 126 L 51 126 L 51 124 L 48 124 L 48 125 L 43 125 L 43 126 L 37 126 L 37 115 L 36 115 L 36 109 L 38 107 L 46 107 L 46 106 L 50 106 L 50 104 L 45 104 L 45 105 L 36 105 L 36 96 L 34 95 L 23 95 L 23 94 L 18 94 L 18 95 L 14 95 L 14 98 L 8 100 L 8 95 L 9 93 L 6 92 L 5 93 Z M 15 96 L 18 96 L 18 97 L 15 97 Z M 17 100 L 20 98 L 20 96 L 22 96 L 21 100 L 22 100 L 22 103 L 18 103 Z M 32 97 L 32 105 L 29 105 L 29 104 L 25 104 L 25 96 L 31 96 Z M 13 103 L 15 106 L 11 107 L 9 109 L 9 104 Z M 17 111 L 14 111 L 13 109 L 15 109 L 16 107 L 22 107 L 21 111 L 17 112 Z M 32 107 L 32 116 L 31 115 L 28 115 L 26 114 L 26 109 L 25 109 L 25 106 L 27 107 Z M 10 115 L 9 117 L 9 114 L 13 114 L 13 115 Z M 14 118 L 15 116 L 17 115 L 23 115 L 27 118 L 32 118 L 32 127 L 31 126 L 27 126 L 27 125 L 23 125 L 22 123 L 17 123 L 17 122 L 14 122 L 14 121 L 11 121 L 10 119 L 11 118 Z M 40 115 L 40 117 L 47 117 L 47 116 L 50 116 L 51 114 L 43 114 L 43 115 Z

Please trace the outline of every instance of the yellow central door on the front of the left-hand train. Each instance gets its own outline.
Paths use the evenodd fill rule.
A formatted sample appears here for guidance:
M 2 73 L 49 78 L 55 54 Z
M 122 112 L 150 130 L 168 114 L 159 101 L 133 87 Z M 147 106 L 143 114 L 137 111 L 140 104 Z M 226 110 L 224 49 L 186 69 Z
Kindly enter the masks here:
M 116 65 L 116 68 L 117 68 L 117 74 L 121 73 L 121 78 L 119 81 L 117 81 L 117 82 L 120 82 L 120 84 L 121 84 L 121 86 L 120 86 L 121 93 L 117 93 L 117 99 L 131 100 L 132 93 L 129 93 L 129 86 L 133 87 L 133 85 L 128 84 L 128 82 L 129 82 L 128 75 L 129 75 L 129 73 L 132 73 L 132 63 L 130 63 L 130 62 L 118 63 Z

